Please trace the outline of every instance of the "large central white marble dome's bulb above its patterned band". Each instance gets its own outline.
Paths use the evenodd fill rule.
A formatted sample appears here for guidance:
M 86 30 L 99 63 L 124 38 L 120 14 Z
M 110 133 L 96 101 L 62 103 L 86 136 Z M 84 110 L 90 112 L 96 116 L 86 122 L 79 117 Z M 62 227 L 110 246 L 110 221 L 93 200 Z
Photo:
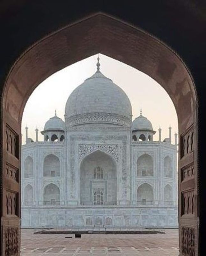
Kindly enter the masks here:
M 70 94 L 65 107 L 65 119 L 97 113 L 101 113 L 99 121 L 104 122 L 105 116 L 102 116 L 107 113 L 117 115 L 116 118 L 126 117 L 131 122 L 132 108 L 128 96 L 99 70 Z M 94 118 L 91 117 L 91 120 Z

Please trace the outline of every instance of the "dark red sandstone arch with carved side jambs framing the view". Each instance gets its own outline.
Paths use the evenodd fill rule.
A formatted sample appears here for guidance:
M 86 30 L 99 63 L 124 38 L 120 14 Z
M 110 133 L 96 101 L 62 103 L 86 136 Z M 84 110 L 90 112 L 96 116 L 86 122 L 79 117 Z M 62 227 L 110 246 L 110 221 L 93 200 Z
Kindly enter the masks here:
M 108 55 L 146 73 L 161 84 L 170 95 L 179 122 L 179 230 L 180 255 L 198 253 L 197 196 L 197 98 L 195 85 L 183 61 L 157 38 L 123 21 L 97 13 L 55 31 L 32 45 L 14 63 L 4 84 L 2 95 L 3 158 L 3 255 L 19 255 L 20 204 L 15 211 L 6 209 L 11 198 L 20 202 L 21 118 L 33 90 L 56 71 L 96 53 Z M 7 136 L 6 136 L 7 135 Z M 190 139 L 188 139 L 190 137 Z M 186 145 L 189 143 L 189 145 Z M 183 145 L 186 145 L 183 147 Z M 11 180 L 4 170 L 19 172 Z M 188 168 L 192 169 L 189 176 Z M 184 211 L 183 198 L 193 198 Z M 192 199 L 191 199 L 192 200 Z M 190 202 L 190 201 L 188 201 Z M 8 211 L 7 211 L 8 210 Z M 11 214 L 7 214 L 7 213 Z M 12 214 L 15 212 L 17 214 Z M 11 245 L 9 234 L 15 231 Z M 188 234 L 191 234 L 188 236 Z M 194 243 L 193 243 L 194 242 Z M 8 244 L 10 246 L 8 246 Z M 194 253 L 193 253 L 194 252 Z M 17 255 L 17 254 L 16 254 Z

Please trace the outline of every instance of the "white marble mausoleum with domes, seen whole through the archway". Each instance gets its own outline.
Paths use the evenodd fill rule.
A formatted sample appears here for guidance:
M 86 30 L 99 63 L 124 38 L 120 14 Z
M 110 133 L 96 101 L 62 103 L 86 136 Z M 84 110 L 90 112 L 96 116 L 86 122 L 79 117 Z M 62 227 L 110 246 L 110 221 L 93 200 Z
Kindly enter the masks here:
M 99 70 L 22 146 L 22 227 L 176 227 L 175 145 Z

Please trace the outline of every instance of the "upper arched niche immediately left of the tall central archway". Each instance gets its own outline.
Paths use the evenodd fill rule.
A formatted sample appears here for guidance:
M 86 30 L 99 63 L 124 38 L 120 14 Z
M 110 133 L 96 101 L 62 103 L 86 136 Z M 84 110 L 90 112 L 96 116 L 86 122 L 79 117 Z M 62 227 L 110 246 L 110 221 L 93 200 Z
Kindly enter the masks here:
M 60 161 L 59 158 L 54 154 L 50 154 L 44 157 L 43 176 L 60 176 Z

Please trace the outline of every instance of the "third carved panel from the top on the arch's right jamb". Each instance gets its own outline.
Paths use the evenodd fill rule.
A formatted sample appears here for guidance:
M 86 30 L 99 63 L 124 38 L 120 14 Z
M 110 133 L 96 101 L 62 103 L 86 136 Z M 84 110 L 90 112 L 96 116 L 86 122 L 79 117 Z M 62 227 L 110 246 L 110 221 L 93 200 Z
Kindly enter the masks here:
M 181 192 L 181 215 L 194 214 L 194 190 Z

